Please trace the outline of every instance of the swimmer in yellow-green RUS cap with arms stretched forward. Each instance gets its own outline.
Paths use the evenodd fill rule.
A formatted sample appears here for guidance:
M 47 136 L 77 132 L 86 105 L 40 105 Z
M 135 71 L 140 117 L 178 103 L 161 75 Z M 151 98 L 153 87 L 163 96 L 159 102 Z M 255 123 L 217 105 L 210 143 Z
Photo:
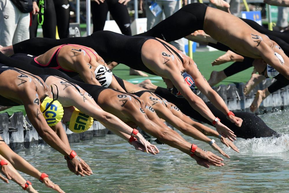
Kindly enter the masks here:
M 75 133 L 84 132 L 92 126 L 93 119 L 96 119 L 106 128 L 112 130 L 126 141 L 129 141 L 133 129 L 114 115 L 103 111 L 96 104 L 95 100 L 77 84 L 72 84 L 64 78 L 59 78 L 57 76 L 39 75 L 39 77 L 42 78 L 48 86 L 56 85 L 59 88 L 58 101 L 64 108 L 62 121 L 70 130 Z M 99 94 L 101 92 L 106 93 L 110 90 L 108 89 L 105 91 L 105 87 L 100 86 L 99 88 Z M 103 93 L 101 93 L 101 96 Z M 110 94 L 108 93 L 105 96 L 108 97 L 109 95 Z M 75 122 L 78 117 L 82 120 L 80 123 Z M 64 119 L 66 121 L 64 121 Z M 63 130 L 55 130 L 56 133 L 61 133 L 62 131 Z M 62 141 L 65 141 L 66 145 L 69 146 L 65 132 L 63 133 L 63 137 L 64 139 L 62 139 Z M 142 151 L 150 152 L 151 154 L 159 152 L 158 148 L 146 141 L 140 133 L 138 133 L 135 138 L 134 147 L 136 147 L 137 143 L 140 143 L 138 146 L 141 147 Z

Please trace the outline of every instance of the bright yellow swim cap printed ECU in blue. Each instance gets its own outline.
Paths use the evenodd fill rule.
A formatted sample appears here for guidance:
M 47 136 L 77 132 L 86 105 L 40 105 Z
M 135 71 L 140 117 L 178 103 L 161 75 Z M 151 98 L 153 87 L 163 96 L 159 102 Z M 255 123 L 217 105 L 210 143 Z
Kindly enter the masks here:
M 46 108 L 47 110 L 45 111 Z M 60 102 L 49 97 L 43 100 L 40 111 L 43 113 L 43 117 L 49 126 L 56 125 L 61 121 L 63 116 L 63 107 Z

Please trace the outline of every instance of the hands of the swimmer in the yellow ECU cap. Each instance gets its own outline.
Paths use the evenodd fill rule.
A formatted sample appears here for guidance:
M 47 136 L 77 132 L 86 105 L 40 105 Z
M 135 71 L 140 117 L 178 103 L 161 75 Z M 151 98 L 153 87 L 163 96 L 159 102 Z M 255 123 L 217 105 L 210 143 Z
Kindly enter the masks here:
M 81 176 L 85 176 L 85 175 L 90 176 L 90 174 L 92 174 L 92 170 L 90 169 L 90 167 L 80 157 L 76 156 L 75 158 L 69 159 L 66 161 L 67 161 L 67 167 L 69 168 L 69 170 L 75 173 L 77 176 L 79 174 Z

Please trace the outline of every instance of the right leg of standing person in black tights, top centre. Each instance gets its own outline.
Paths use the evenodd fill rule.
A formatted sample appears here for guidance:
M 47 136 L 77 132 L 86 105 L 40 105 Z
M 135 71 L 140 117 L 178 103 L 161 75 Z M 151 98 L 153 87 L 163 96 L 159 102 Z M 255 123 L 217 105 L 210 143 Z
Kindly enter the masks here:
M 115 0 L 110 1 L 108 5 L 110 14 L 117 23 L 121 33 L 131 36 L 130 18 L 127 11 L 127 6 L 123 5 L 123 3 L 118 3 L 118 1 Z

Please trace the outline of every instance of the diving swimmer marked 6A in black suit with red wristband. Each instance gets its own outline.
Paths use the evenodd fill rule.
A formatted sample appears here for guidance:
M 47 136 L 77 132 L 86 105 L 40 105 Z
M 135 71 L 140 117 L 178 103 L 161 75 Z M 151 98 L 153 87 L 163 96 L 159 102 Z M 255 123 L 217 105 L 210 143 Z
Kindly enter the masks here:
M 29 63 L 25 63 L 23 60 L 16 60 L 4 56 L 1 61 L 10 66 L 23 68 L 31 73 L 54 75 L 75 83 L 90 94 L 104 111 L 117 116 L 125 123 L 139 126 L 147 133 L 159 139 L 159 141 L 185 152 L 195 159 L 199 165 L 206 168 L 209 168 L 210 165 L 224 165 L 221 163 L 221 161 L 223 161 L 222 158 L 214 155 L 212 152 L 203 151 L 197 146 L 188 143 L 177 132 L 168 128 L 155 114 L 151 106 L 147 106 L 140 98 L 134 95 L 114 91 L 98 85 L 78 82 L 56 69 L 34 67 L 29 65 Z M 105 89 L 106 92 L 103 92 L 103 89 Z M 107 95 L 101 96 L 102 93 L 107 93 Z

